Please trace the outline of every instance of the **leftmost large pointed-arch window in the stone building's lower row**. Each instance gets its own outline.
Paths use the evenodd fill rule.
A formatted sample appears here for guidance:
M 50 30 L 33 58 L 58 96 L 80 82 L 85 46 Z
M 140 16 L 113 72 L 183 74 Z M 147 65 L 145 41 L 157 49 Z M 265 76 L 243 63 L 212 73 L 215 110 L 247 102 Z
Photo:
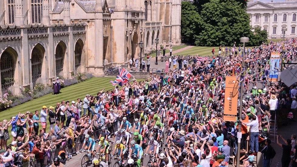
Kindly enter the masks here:
M 0 73 L 2 89 L 8 88 L 14 84 L 16 57 L 16 51 L 10 47 L 8 47 L 1 55 Z

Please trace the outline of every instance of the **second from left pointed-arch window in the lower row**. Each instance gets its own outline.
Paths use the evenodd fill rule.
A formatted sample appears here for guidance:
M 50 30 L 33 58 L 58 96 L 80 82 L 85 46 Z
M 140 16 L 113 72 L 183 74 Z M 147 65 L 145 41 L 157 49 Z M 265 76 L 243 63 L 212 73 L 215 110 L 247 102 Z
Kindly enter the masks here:
M 31 54 L 31 70 L 32 70 L 32 83 L 33 86 L 37 79 L 41 78 L 42 61 L 44 55 L 44 48 L 42 45 L 37 44 Z

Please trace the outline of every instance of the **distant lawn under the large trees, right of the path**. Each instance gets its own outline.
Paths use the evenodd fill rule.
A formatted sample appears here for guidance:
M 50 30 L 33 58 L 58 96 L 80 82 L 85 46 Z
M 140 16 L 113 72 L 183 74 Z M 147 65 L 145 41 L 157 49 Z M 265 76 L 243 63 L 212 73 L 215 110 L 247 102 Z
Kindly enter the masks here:
M 175 55 L 200 55 L 200 56 L 209 56 L 209 55 L 212 54 L 211 53 L 212 48 L 213 48 L 212 46 L 194 46 L 194 47 L 189 48 L 187 50 L 184 50 L 182 52 L 178 52 Z M 215 55 L 218 55 L 219 54 L 219 47 L 217 46 L 217 47 L 214 47 L 214 48 L 215 48 Z

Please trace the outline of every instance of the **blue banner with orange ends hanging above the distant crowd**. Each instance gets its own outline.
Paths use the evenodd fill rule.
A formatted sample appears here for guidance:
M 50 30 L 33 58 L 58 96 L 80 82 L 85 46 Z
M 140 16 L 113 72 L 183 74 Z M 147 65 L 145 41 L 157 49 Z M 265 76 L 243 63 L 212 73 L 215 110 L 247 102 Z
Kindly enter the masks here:
M 278 81 L 278 71 L 280 63 L 280 54 L 278 52 L 272 52 L 270 57 L 270 69 L 269 69 L 269 81 Z

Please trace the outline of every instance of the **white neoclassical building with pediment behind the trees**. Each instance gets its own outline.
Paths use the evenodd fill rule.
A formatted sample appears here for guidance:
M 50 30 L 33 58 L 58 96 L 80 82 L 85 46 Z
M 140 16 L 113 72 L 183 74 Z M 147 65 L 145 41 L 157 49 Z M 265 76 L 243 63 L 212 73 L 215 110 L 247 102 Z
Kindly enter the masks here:
M 285 38 L 296 37 L 297 1 L 260 2 L 250 0 L 247 6 L 252 27 L 261 27 L 268 32 L 268 38 L 283 38 L 282 28 L 287 28 Z

